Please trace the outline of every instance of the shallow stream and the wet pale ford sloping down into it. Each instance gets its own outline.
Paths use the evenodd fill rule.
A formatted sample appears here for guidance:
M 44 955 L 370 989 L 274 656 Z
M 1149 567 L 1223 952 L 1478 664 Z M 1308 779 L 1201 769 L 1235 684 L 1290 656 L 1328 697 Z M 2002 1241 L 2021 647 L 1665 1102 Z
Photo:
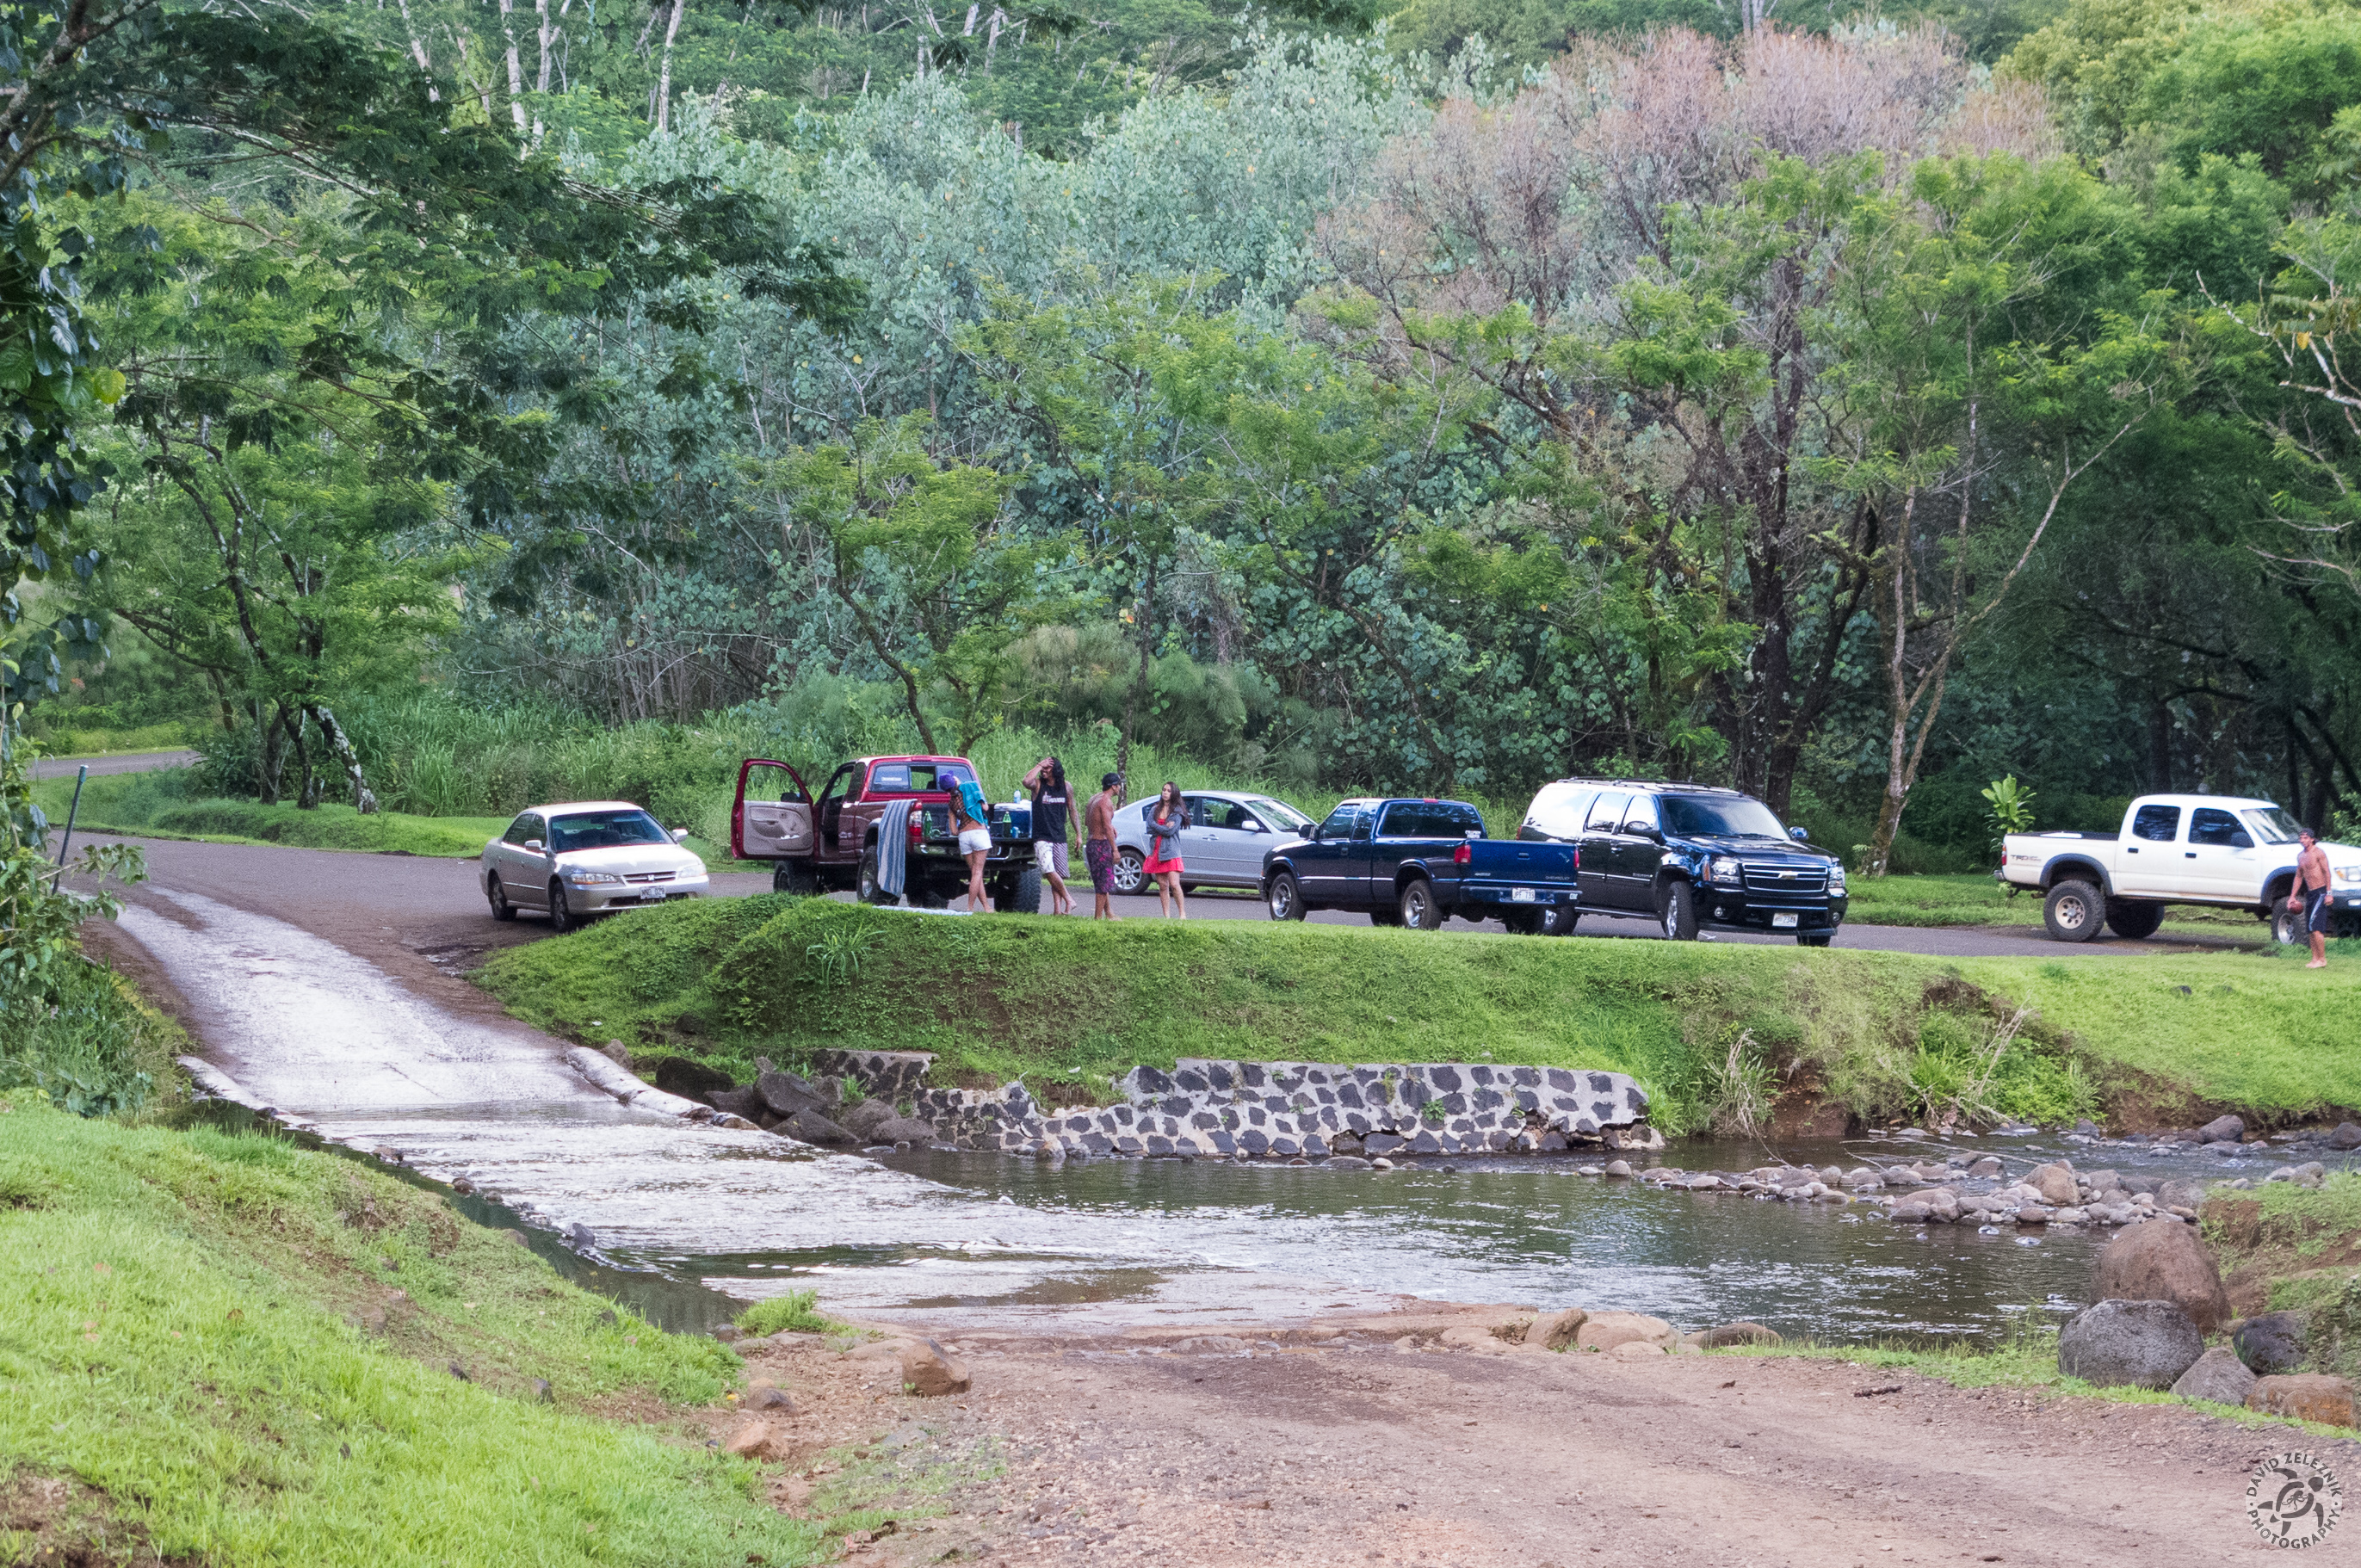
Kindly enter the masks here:
M 1681 1327 L 1754 1320 L 1827 1341 L 1988 1341 L 2026 1313 L 2080 1306 L 2108 1237 L 1657 1193 L 1549 1157 L 1336 1171 L 819 1155 L 626 1110 L 519 1025 L 439 1011 L 283 921 L 168 897 L 170 912 L 127 909 L 125 928 L 191 997 L 212 1056 L 250 1093 L 333 1143 L 394 1148 L 418 1176 L 467 1176 L 470 1214 L 534 1228 L 538 1252 L 666 1327 L 725 1318 L 732 1306 L 713 1292 L 817 1289 L 848 1315 L 930 1322 L 1270 1320 L 1428 1296 L 1646 1311 Z M 2066 1155 L 2158 1178 L 2259 1178 L 2285 1159 L 2061 1138 L 1775 1155 L 1851 1169 L 1931 1148 L 2000 1152 L 2014 1171 Z M 1662 1162 L 1731 1171 L 1771 1157 L 1759 1143 L 1683 1141 Z

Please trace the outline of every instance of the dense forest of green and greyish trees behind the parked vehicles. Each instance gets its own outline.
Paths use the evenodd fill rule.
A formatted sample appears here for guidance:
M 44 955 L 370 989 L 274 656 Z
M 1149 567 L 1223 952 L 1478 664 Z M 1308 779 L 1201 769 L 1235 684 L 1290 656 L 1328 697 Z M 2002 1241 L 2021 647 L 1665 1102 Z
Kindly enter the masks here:
M 1797 5 L 0 7 L 14 723 L 2349 810 L 2361 7 Z

